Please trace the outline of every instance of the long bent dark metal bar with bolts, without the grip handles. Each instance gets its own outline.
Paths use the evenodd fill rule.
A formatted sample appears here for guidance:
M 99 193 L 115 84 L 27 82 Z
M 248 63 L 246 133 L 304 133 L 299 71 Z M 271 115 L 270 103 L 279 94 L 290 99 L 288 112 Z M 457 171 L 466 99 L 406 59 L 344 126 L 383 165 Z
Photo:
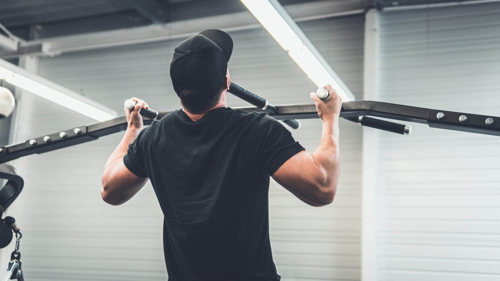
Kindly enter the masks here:
M 308 119 L 318 118 L 316 105 L 314 103 L 303 104 L 284 104 L 276 105 L 278 112 L 272 117 L 278 120 L 287 119 Z M 245 112 L 257 111 L 268 112 L 268 108 L 262 110 L 258 107 L 234 107 Z M 170 111 L 160 112 L 159 116 L 168 114 Z M 442 113 L 442 114 L 441 114 Z M 500 117 L 470 114 L 463 112 L 435 110 L 422 107 L 407 106 L 394 103 L 386 103 L 369 100 L 346 101 L 342 103 L 340 117 L 352 117 L 371 115 L 376 117 L 390 118 L 408 122 L 417 122 L 428 124 L 430 127 L 451 129 L 458 131 L 499 135 L 500 136 Z M 466 115 L 466 121 L 460 121 L 459 117 Z M 437 116 L 441 116 L 438 118 Z M 486 120 L 489 120 L 486 121 Z M 144 119 L 144 124 L 152 122 L 150 119 Z M 100 136 L 108 135 L 126 129 L 127 122 L 125 116 L 119 116 L 103 122 L 93 123 L 86 126 L 70 128 L 61 132 L 47 134 L 50 141 L 44 141 L 44 136 L 28 139 L 24 142 L 10 145 L 0 145 L 0 163 L 10 161 L 25 155 L 34 153 L 43 153 L 71 146 L 86 141 L 94 140 Z M 77 133 L 78 132 L 78 133 Z M 64 135 L 62 137 L 61 135 Z M 32 144 L 31 144 L 32 143 Z

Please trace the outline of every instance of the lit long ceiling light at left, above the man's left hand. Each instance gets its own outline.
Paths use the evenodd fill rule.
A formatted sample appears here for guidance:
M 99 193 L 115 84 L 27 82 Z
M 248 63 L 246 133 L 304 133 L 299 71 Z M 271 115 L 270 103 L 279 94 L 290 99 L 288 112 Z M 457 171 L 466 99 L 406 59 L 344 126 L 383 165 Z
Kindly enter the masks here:
M 4 59 L 0 59 L 0 79 L 97 121 L 116 116 L 116 111 L 111 108 Z

